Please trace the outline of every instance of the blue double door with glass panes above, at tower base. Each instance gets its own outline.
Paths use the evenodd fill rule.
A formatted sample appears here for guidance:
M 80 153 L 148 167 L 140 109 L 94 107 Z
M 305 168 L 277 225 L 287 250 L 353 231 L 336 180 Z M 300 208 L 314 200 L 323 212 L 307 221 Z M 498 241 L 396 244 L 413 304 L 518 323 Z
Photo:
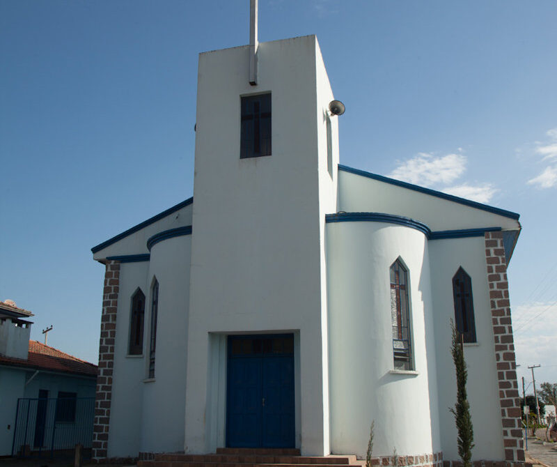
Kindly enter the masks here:
M 294 335 L 228 336 L 226 445 L 294 447 Z

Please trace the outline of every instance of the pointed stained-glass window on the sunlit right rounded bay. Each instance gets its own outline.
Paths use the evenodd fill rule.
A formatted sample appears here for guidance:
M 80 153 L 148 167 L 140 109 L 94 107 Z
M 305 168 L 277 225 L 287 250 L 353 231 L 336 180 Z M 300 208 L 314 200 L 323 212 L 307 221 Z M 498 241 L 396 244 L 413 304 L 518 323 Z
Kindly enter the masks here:
M 407 270 L 397 259 L 391 274 L 391 327 L 395 369 L 412 369 Z

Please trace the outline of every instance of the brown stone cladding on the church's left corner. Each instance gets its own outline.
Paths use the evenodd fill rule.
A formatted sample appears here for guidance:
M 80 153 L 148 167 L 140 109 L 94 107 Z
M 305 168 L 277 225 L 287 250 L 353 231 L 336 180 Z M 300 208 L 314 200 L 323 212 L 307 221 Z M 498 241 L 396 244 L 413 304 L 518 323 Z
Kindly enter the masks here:
M 109 441 L 110 406 L 112 398 L 112 369 L 114 365 L 114 339 L 116 338 L 116 310 L 120 289 L 120 263 L 107 261 L 102 291 L 102 314 L 99 342 L 99 375 L 95 397 L 93 425 L 93 459 L 107 459 Z

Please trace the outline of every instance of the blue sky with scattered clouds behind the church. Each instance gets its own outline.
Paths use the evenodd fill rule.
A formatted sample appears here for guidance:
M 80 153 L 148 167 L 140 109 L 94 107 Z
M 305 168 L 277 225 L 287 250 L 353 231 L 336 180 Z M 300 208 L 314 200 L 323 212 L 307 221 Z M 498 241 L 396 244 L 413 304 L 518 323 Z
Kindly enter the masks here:
M 259 9 L 261 41 L 317 34 L 341 163 L 521 214 L 519 376 L 557 382 L 557 3 Z M 248 0 L 0 1 L 0 300 L 33 339 L 97 361 L 91 247 L 191 196 L 198 53 L 248 40 Z

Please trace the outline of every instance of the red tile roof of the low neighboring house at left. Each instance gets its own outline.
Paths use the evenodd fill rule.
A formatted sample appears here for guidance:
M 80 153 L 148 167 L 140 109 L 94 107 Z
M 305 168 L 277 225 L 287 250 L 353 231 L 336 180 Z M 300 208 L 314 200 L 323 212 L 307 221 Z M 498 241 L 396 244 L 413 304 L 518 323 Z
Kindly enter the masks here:
M 0 355 L 0 365 L 97 376 L 97 365 L 54 349 L 54 347 L 41 344 L 38 341 L 29 341 L 29 357 L 27 360 Z

